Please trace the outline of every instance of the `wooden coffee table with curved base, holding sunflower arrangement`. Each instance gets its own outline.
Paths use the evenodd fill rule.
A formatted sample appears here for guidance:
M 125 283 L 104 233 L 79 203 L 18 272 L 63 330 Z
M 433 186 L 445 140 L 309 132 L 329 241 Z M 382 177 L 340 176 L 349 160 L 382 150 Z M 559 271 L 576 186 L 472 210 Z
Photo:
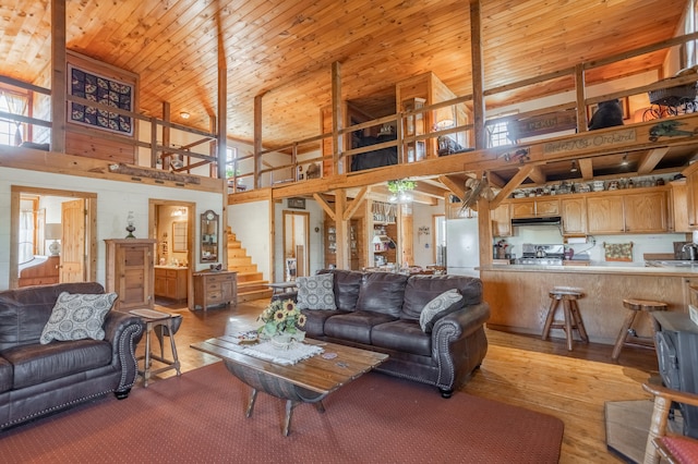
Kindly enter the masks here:
M 297 364 L 284 366 L 240 353 L 234 335 L 224 335 L 194 343 L 191 347 L 222 358 L 228 370 L 252 387 L 245 416 L 254 408 L 257 392 L 286 400 L 286 418 L 282 434 L 288 436 L 293 408 L 301 403 L 314 403 L 325 412 L 322 400 L 339 387 L 349 383 L 378 366 L 388 355 L 368 350 L 342 346 L 306 339 L 304 343 L 320 345 L 326 358 L 318 354 Z M 238 350 L 238 351 L 234 351 Z

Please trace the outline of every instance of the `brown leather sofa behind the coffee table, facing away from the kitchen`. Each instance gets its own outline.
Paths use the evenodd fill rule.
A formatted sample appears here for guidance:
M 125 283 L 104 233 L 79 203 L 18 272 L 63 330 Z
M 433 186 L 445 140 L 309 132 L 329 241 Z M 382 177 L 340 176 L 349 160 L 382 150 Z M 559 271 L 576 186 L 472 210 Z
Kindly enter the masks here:
M 334 274 L 337 309 L 302 309 L 305 334 L 389 355 L 376 370 L 436 386 L 444 398 L 464 384 L 488 352 L 490 306 L 482 281 L 461 276 L 322 270 Z M 434 297 L 458 289 L 461 306 L 438 318 L 430 332 L 419 319 Z M 282 295 L 281 295 L 282 296 Z

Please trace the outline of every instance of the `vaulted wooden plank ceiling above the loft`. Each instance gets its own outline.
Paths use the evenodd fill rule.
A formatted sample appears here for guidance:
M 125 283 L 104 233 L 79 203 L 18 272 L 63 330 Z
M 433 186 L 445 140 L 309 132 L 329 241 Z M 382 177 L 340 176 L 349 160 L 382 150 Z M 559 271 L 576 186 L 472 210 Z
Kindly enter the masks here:
M 485 88 L 567 69 L 670 38 L 686 0 L 482 1 Z M 395 83 L 433 71 L 471 93 L 469 2 L 464 0 L 68 1 L 71 50 L 141 76 L 141 110 L 207 130 L 216 112 L 218 45 L 228 70 L 228 134 L 263 142 L 316 135 L 330 105 L 330 65 L 342 97 L 375 117 L 395 112 Z M 50 1 L 0 0 L 0 74 L 33 83 L 50 66 Z M 660 68 L 663 53 L 588 74 L 589 82 Z M 571 85 L 563 83 L 559 85 Z M 530 97 L 550 88 L 527 88 Z M 494 99 L 490 108 L 503 103 Z

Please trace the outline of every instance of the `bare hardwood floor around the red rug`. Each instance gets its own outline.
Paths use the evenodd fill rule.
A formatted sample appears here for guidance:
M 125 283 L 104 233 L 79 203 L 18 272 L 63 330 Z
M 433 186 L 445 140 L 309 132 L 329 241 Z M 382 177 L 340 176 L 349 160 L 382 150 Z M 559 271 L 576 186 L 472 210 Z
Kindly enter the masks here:
M 254 322 L 267 303 L 257 300 L 205 313 L 182 306 L 156 309 L 184 317 L 176 341 L 182 371 L 189 371 L 218 361 L 190 349 L 191 343 L 234 330 L 236 323 Z M 606 450 L 604 402 L 649 398 L 641 384 L 657 376 L 653 351 L 626 347 L 618 363 L 613 363 L 610 345 L 576 342 L 568 352 L 563 339 L 544 342 L 495 330 L 488 330 L 488 340 L 484 362 L 462 391 L 559 417 L 565 423 L 561 463 L 622 462 Z M 172 375 L 168 370 L 151 380 Z

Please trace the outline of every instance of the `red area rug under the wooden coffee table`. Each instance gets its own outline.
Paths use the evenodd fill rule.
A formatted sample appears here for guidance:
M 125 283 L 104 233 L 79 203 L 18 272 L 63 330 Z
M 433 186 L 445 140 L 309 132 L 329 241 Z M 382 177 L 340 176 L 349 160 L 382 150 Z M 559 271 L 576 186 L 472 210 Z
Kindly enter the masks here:
M 135 388 L 0 434 L 4 463 L 556 463 L 562 420 L 456 392 L 366 374 L 326 412 L 250 390 L 221 363 Z

